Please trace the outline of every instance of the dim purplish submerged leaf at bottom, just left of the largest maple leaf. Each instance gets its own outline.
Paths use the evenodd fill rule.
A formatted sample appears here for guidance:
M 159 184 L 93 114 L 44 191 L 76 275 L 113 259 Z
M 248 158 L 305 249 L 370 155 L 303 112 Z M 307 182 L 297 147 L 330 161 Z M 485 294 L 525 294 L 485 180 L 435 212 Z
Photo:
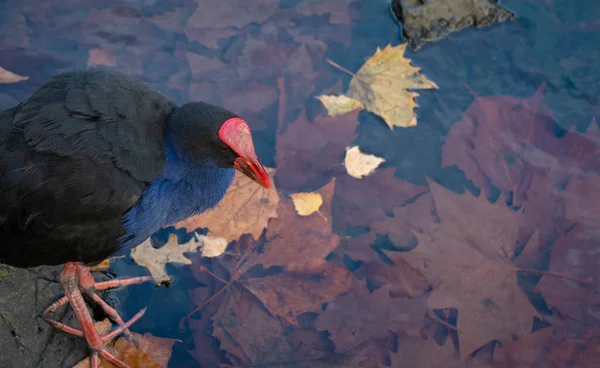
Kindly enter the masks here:
M 317 318 L 315 327 L 327 330 L 335 350 L 344 353 L 372 337 L 385 337 L 389 331 L 419 335 L 425 316 L 425 299 L 392 298 L 389 286 L 370 293 L 364 282 L 329 303 Z

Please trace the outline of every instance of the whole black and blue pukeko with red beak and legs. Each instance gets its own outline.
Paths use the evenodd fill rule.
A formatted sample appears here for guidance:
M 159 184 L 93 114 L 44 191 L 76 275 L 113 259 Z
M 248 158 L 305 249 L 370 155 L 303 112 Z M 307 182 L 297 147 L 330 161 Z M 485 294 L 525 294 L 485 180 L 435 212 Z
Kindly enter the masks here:
M 0 112 L 0 263 L 64 264 L 65 296 L 45 312 L 72 306 L 91 367 L 125 323 L 96 290 L 149 280 L 96 283 L 86 265 L 123 254 L 161 227 L 222 199 L 235 169 L 269 188 L 250 129 L 236 114 L 203 102 L 177 106 L 131 76 L 107 70 L 56 75 L 26 101 Z M 226 221 L 226 219 L 223 219 Z M 82 292 L 119 325 L 100 336 Z

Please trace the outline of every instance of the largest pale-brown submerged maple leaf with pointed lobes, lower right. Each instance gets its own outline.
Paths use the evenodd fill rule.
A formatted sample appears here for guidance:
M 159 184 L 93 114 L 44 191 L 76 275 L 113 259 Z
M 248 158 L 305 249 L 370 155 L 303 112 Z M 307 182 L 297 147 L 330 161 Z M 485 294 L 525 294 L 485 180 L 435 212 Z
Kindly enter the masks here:
M 392 259 L 405 259 L 427 277 L 433 287 L 427 299 L 430 309 L 458 309 L 463 358 L 490 340 L 529 333 L 538 313 L 521 290 L 512 264 L 516 213 L 501 199 L 491 204 L 483 196 L 458 195 L 432 181 L 429 187 L 439 224 L 416 232 L 418 245 L 413 250 L 384 252 Z

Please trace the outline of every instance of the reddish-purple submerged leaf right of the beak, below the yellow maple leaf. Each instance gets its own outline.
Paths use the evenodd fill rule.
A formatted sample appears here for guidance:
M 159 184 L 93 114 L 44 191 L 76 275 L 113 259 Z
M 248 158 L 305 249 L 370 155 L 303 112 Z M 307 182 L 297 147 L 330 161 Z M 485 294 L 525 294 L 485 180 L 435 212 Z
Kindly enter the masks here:
M 291 192 L 312 191 L 331 180 L 336 167 L 342 168 L 346 147 L 356 138 L 357 116 L 357 112 L 318 115 L 309 122 L 302 111 L 277 139 L 277 186 Z

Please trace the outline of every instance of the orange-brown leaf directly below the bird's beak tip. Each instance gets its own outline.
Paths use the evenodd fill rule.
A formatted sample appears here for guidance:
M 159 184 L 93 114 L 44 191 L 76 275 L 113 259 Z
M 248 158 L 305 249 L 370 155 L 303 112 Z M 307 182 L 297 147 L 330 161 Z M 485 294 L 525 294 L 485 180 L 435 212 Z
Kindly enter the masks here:
M 271 217 L 277 217 L 279 194 L 274 187 L 274 169 L 267 169 L 273 187 L 265 189 L 236 171 L 233 183 L 217 207 L 175 224 L 176 228 L 208 228 L 209 235 L 228 242 L 242 234 L 258 238 Z

